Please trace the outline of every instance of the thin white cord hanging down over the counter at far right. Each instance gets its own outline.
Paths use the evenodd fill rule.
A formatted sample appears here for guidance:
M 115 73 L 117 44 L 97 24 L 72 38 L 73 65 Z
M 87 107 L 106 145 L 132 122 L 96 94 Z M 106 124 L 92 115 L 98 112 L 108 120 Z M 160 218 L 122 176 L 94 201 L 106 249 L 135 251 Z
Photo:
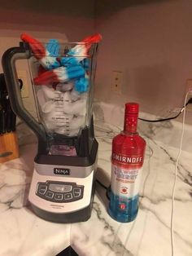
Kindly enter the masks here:
M 181 155 L 181 149 L 182 149 L 182 142 L 183 142 L 183 136 L 184 136 L 184 130 L 185 130 L 185 110 L 186 110 L 186 99 L 189 94 L 189 91 L 185 95 L 185 104 L 184 104 L 184 113 L 183 113 L 183 120 L 182 120 L 182 132 L 181 132 L 181 140 L 180 140 L 180 147 L 179 152 L 177 155 L 176 165 L 175 165 L 175 175 L 174 175 L 174 183 L 172 187 L 172 212 L 171 212 L 171 245 L 172 245 L 172 256 L 174 255 L 174 234 L 173 234 L 173 222 L 174 222 L 174 203 L 175 203 L 175 189 L 177 184 L 177 169 L 178 169 L 178 162 Z M 188 101 L 189 102 L 189 101 Z

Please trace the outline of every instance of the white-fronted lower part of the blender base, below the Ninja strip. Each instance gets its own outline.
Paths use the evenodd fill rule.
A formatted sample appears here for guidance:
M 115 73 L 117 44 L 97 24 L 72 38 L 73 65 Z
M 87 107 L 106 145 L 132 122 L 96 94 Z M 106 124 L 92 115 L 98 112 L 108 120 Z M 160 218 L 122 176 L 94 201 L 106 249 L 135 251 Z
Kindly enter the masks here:
M 74 166 L 73 168 L 76 168 Z M 95 165 L 86 177 L 58 177 L 33 171 L 28 201 L 40 218 L 54 223 L 85 222 L 91 216 L 95 191 Z

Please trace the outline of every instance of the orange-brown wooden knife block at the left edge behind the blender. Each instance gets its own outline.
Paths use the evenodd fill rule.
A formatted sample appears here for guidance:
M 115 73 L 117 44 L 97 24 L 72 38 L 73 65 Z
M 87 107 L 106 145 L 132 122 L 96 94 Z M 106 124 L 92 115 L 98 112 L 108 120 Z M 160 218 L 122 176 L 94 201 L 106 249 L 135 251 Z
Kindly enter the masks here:
M 0 135 L 0 163 L 19 157 L 19 145 L 16 132 Z

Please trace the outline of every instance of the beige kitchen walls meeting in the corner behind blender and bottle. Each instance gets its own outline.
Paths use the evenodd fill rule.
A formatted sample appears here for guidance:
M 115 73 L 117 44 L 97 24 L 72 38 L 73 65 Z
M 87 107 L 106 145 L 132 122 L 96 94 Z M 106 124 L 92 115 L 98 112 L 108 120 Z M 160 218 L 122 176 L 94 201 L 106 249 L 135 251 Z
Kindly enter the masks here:
M 167 117 L 183 104 L 185 80 L 192 78 L 191 13 L 191 0 L 3 1 L 0 55 L 24 31 L 70 41 L 98 31 L 95 98 L 120 106 L 135 100 L 142 112 Z M 123 72 L 121 95 L 111 91 L 112 70 Z

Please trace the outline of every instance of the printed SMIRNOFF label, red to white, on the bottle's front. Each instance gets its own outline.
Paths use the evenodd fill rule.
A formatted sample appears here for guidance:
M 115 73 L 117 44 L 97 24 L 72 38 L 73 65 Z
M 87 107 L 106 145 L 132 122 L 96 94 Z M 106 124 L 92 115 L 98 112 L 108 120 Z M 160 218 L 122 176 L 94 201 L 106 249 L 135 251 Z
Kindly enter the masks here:
M 143 157 L 112 154 L 111 191 L 127 201 L 137 196 L 142 175 Z

